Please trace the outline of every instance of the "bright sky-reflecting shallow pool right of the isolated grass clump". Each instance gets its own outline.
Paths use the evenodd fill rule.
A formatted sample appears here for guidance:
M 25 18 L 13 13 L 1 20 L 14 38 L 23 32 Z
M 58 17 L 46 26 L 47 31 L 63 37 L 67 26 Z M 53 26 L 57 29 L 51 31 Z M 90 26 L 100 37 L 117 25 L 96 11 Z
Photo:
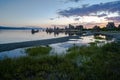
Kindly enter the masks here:
M 95 38 L 96 36 L 102 37 L 103 39 L 96 39 Z M 113 38 L 109 38 L 109 36 L 105 36 L 105 35 L 80 36 L 79 38 L 69 39 L 69 41 L 67 41 L 67 42 L 51 44 L 50 46 L 53 48 L 53 50 L 51 51 L 51 54 L 54 55 L 54 53 L 55 53 L 55 54 L 63 55 L 63 53 L 66 53 L 68 48 L 70 48 L 74 45 L 88 46 L 88 45 L 90 45 L 89 43 L 97 42 L 98 46 L 102 46 L 106 43 L 110 43 L 113 41 L 114 41 Z

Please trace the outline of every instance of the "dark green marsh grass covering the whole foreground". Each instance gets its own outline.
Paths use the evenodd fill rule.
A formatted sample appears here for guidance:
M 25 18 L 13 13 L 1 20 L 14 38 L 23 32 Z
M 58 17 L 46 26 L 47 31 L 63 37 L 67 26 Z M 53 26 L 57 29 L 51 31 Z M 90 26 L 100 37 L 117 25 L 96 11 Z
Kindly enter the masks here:
M 27 49 L 27 57 L 0 60 L 0 80 L 120 80 L 119 43 L 74 46 L 64 56 L 50 56 L 46 47 L 40 57 L 40 48 Z

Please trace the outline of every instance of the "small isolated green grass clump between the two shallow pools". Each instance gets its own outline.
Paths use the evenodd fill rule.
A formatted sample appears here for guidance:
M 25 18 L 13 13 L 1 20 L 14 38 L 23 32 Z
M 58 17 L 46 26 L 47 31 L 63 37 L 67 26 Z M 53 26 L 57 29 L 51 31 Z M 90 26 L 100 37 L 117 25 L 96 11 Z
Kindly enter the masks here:
M 32 48 L 28 48 L 26 49 L 26 53 L 29 56 L 38 56 L 38 55 L 46 55 L 49 54 L 51 50 L 51 47 L 49 46 L 38 46 L 38 47 L 32 47 Z

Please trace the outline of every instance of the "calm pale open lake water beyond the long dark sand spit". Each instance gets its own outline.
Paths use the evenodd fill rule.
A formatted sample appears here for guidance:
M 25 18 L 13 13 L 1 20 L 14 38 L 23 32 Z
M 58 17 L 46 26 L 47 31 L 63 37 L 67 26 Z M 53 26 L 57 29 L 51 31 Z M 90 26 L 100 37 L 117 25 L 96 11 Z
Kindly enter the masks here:
M 64 33 L 56 35 L 54 33 L 46 33 L 44 31 L 32 33 L 31 30 L 0 30 L 0 44 L 42 40 L 64 36 L 67 35 Z

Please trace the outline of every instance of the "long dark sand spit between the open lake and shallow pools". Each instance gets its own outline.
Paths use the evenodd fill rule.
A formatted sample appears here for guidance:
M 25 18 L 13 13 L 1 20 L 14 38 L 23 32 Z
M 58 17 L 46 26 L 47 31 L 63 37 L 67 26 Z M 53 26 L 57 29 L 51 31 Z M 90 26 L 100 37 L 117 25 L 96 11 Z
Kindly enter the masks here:
M 71 38 L 79 38 L 79 36 L 67 36 L 67 37 L 44 39 L 44 40 L 0 44 L 0 52 L 9 51 L 9 50 L 17 49 L 17 48 L 25 48 L 25 47 L 49 45 L 49 44 L 55 44 L 55 43 L 60 43 L 60 42 L 66 42 Z

